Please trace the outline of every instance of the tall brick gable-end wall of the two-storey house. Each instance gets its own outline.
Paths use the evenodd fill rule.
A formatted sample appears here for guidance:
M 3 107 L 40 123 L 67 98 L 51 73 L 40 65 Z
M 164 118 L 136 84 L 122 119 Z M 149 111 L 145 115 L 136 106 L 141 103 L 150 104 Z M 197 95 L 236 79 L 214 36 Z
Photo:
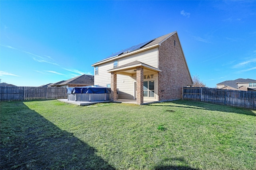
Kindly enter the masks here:
M 192 79 L 177 34 L 159 46 L 159 69 L 159 101 L 181 99 L 182 87 L 192 85 Z

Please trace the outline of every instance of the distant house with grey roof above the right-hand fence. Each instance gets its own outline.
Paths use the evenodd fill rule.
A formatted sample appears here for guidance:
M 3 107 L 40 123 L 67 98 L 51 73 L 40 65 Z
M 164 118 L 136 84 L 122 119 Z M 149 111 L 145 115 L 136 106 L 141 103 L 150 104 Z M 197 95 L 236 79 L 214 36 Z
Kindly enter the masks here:
M 236 79 L 227 80 L 217 84 L 218 89 L 256 91 L 256 80 L 254 79 Z

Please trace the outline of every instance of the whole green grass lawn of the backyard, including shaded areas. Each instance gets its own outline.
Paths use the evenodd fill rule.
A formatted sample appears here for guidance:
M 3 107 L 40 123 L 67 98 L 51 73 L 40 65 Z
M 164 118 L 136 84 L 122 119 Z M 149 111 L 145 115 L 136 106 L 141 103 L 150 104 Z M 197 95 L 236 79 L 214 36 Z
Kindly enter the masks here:
M 0 103 L 0 169 L 253 170 L 256 111 L 196 101 Z

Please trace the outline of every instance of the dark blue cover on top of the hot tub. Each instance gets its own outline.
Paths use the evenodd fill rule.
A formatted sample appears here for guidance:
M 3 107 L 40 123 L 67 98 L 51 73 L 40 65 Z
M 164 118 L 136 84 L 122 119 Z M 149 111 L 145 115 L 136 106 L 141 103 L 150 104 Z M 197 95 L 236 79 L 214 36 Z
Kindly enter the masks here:
M 68 94 L 74 93 L 94 93 L 94 94 L 102 94 L 102 93 L 111 93 L 111 89 L 108 87 L 103 87 L 99 85 L 90 85 L 85 87 L 67 87 Z

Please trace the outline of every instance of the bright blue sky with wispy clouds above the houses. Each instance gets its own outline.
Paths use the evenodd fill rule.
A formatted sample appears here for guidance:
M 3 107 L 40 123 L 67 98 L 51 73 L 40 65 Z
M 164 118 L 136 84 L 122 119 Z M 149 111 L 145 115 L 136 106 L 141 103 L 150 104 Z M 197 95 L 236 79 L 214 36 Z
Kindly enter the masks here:
M 256 79 L 256 1 L 0 1 L 0 79 L 40 86 L 177 31 L 208 87 Z

